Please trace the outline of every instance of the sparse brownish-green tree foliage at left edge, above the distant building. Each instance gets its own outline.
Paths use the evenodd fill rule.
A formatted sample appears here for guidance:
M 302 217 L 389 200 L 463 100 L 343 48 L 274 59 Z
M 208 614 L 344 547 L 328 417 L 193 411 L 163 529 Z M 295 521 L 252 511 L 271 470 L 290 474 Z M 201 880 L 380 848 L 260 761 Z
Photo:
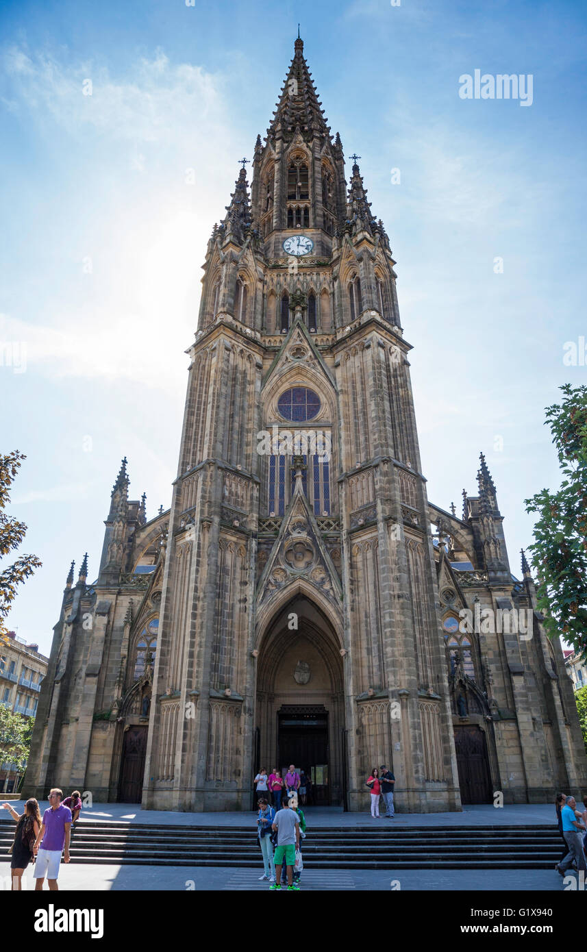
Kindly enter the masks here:
M 9 552 L 18 548 L 25 538 L 27 526 L 10 518 L 4 511 L 10 503 L 10 486 L 23 460 L 27 457 L 18 451 L 0 455 L 0 562 Z M 21 585 L 35 568 L 42 563 L 36 555 L 19 555 L 12 563 L 0 571 L 0 642 L 6 642 L 7 627 L 5 619 L 10 612 L 10 605 L 16 596 L 17 585 Z

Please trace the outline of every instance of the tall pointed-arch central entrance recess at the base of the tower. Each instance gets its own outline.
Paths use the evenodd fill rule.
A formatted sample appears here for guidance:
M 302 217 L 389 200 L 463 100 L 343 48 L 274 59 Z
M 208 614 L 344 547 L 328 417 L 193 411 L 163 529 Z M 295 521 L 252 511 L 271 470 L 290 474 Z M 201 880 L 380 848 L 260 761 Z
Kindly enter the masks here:
M 292 628 L 292 616 L 297 629 Z M 345 783 L 342 656 L 333 626 L 303 594 L 267 625 L 259 647 L 255 769 L 310 771 L 316 805 L 342 804 Z

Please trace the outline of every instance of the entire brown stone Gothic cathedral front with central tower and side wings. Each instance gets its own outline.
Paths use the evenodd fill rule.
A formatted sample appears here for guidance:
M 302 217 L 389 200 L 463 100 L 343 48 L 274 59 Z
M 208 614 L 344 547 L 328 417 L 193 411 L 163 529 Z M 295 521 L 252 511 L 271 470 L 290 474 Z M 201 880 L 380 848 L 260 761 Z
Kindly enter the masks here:
M 484 458 L 460 516 L 427 499 L 395 262 L 352 158 L 347 188 L 298 39 L 208 242 L 170 509 L 147 520 L 123 461 L 98 577 L 68 576 L 27 796 L 247 809 L 290 763 L 347 809 L 382 763 L 405 812 L 587 783 Z

